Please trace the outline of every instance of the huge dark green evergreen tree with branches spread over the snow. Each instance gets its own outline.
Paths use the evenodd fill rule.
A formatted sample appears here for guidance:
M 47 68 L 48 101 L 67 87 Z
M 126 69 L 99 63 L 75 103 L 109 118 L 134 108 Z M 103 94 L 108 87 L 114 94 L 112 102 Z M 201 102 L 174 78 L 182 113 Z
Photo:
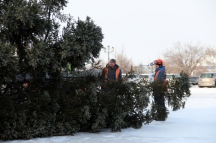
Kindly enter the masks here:
M 73 20 L 61 10 L 66 0 L 0 1 L 0 140 L 98 132 L 108 127 L 140 128 L 155 114 L 153 85 L 122 81 L 105 84 L 91 71 L 63 77 L 62 68 L 83 67 L 99 56 L 103 34 L 89 17 Z M 61 24 L 66 26 L 61 29 Z M 188 76 L 164 92 L 173 110 L 190 95 Z M 150 103 L 150 104 L 149 104 Z M 166 116 L 165 114 L 162 114 Z

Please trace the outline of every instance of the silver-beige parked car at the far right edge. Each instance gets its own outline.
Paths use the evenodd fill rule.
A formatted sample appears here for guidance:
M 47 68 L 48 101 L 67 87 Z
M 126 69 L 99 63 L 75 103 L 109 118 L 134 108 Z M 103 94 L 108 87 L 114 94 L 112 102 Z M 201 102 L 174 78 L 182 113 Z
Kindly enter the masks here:
M 201 87 L 215 87 L 215 72 L 204 72 L 200 75 L 198 86 Z

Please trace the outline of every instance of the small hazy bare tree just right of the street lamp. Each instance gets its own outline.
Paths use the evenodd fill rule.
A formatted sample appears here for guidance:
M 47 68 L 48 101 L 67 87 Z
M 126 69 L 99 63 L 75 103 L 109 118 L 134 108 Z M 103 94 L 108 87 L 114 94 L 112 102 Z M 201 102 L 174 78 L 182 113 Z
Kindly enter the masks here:
M 115 59 L 123 73 L 128 73 L 131 70 L 133 64 L 131 59 L 125 54 L 124 49 L 122 49 L 120 53 L 115 54 Z

